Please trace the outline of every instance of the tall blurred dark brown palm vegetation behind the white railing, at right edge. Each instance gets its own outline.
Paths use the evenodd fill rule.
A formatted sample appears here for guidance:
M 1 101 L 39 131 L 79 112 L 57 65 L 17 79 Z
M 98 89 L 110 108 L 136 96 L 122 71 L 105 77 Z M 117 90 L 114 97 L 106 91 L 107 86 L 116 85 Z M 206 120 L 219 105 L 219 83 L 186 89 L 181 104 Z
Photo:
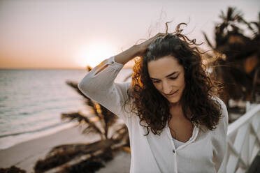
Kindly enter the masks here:
M 217 80 L 224 84 L 222 99 L 228 109 L 229 100 L 244 100 L 259 103 L 260 81 L 260 13 L 258 21 L 247 22 L 243 13 L 229 7 L 221 11 L 222 22 L 215 25 L 215 44 L 205 40 L 219 57 L 211 65 Z M 209 57 L 214 59 L 213 56 Z M 230 110 L 230 109 L 229 109 Z

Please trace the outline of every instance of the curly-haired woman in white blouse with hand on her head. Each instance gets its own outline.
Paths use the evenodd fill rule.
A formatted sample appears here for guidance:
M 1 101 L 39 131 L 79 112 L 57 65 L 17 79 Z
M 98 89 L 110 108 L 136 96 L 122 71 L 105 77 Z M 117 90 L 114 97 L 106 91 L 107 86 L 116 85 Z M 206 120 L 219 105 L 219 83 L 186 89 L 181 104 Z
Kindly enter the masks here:
M 126 123 L 130 172 L 225 172 L 226 106 L 180 25 L 106 59 L 78 84 Z M 134 57 L 132 82 L 115 83 Z

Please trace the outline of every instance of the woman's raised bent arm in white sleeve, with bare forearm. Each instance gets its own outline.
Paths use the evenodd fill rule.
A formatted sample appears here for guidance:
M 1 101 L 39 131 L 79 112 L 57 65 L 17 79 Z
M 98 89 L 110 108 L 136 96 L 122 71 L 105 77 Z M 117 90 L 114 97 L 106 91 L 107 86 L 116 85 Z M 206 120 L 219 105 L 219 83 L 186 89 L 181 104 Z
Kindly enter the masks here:
M 134 57 L 143 56 L 151 41 L 161 35 L 163 34 L 158 33 L 144 43 L 133 45 L 128 50 L 102 61 L 85 75 L 78 84 L 78 88 L 85 96 L 100 103 L 126 122 L 126 114 L 121 108 L 128 98 L 127 89 L 129 89 L 130 83 L 115 83 L 115 77 L 125 63 Z

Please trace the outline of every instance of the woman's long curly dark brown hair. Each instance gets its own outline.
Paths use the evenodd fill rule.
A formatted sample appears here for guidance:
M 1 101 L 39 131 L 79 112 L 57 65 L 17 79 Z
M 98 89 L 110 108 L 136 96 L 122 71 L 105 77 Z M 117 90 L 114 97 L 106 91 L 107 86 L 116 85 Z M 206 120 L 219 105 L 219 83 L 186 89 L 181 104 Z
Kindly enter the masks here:
M 150 130 L 154 135 L 160 135 L 171 119 L 170 103 L 154 87 L 147 70 L 148 62 L 168 55 L 178 59 L 178 63 L 185 69 L 185 89 L 180 98 L 185 118 L 196 127 L 201 125 L 214 130 L 222 114 L 221 105 L 212 99 L 213 96 L 219 96 L 219 83 L 212 80 L 202 63 L 203 52 L 196 47 L 201 44 L 182 34 L 182 24 L 187 25 L 180 23 L 175 32 L 168 33 L 167 22 L 166 35 L 156 38 L 133 66 L 131 87 L 127 91 L 129 98 L 124 106 L 132 100 L 131 112 L 136 113 L 140 118 L 140 125 L 147 128 L 145 135 Z M 191 118 L 188 118 L 188 114 L 191 114 Z

